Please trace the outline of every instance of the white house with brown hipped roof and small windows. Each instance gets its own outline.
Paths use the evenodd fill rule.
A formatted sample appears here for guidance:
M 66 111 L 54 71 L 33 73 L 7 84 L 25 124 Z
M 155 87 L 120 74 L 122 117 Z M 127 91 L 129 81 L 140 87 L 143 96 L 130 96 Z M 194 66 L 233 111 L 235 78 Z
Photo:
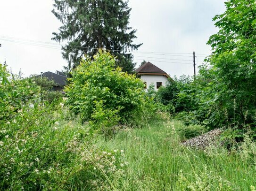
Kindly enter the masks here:
M 154 84 L 155 90 L 157 90 L 159 87 L 165 86 L 168 78 L 170 78 L 164 70 L 159 69 L 150 62 L 147 62 L 138 69 L 135 69 L 135 72 L 144 82 L 145 89 L 148 89 L 150 84 Z

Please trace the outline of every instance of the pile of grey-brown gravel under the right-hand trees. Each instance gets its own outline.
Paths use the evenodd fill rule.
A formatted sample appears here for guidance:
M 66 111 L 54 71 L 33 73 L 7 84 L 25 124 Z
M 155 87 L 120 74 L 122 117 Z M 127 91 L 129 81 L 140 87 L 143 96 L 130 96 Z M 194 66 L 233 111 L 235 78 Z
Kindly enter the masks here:
M 205 149 L 207 146 L 216 145 L 217 138 L 221 135 L 222 130 L 211 130 L 203 135 L 186 140 L 182 144 L 185 146 L 192 146 L 198 149 Z

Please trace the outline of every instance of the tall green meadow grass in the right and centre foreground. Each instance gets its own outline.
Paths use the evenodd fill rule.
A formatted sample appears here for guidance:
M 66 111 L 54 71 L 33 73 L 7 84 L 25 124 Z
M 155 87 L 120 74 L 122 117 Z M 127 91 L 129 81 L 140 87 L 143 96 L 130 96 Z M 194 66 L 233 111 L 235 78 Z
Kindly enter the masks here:
M 114 179 L 120 190 L 254 190 L 256 146 L 249 141 L 239 150 L 191 150 L 180 142 L 181 122 L 156 122 L 149 128 L 120 131 L 98 146 L 124 150 L 125 178 Z

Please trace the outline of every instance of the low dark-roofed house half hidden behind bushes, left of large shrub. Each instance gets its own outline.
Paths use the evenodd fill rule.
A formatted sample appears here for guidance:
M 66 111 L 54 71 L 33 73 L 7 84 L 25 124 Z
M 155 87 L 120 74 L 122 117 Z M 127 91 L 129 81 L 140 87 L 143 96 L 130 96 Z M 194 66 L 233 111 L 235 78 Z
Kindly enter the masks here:
M 56 71 L 56 73 L 53 72 L 41 72 L 41 75 L 38 75 L 38 77 L 47 77 L 49 80 L 53 80 L 56 85 L 53 86 L 54 91 L 62 91 L 64 89 L 64 86 L 67 84 L 67 77 L 60 71 Z

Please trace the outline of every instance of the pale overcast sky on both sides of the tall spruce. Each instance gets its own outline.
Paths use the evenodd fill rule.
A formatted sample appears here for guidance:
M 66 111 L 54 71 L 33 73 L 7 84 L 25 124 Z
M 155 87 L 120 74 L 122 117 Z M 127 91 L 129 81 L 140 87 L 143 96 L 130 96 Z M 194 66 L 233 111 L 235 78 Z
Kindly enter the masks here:
M 29 76 L 67 65 L 58 46 L 36 42 L 56 43 L 52 32 L 58 32 L 61 23 L 51 13 L 52 4 L 53 0 L 0 0 L 0 62 L 6 59 L 14 73 L 21 69 Z M 143 43 L 134 61 L 150 61 L 171 76 L 193 74 L 193 51 L 198 64 L 203 54 L 211 53 L 206 42 L 218 31 L 212 18 L 225 10 L 224 0 L 130 0 L 129 6 L 130 26 L 137 29 L 135 42 Z

